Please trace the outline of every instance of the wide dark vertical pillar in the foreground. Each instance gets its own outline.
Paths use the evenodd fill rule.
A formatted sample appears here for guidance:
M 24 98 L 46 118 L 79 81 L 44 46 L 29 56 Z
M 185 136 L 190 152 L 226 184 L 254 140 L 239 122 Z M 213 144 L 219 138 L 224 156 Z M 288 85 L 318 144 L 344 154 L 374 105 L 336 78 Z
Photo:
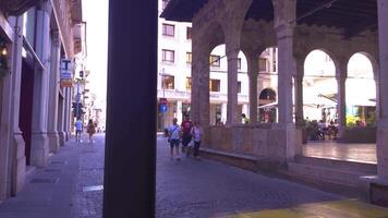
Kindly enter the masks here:
M 154 217 L 157 3 L 109 1 L 104 217 Z

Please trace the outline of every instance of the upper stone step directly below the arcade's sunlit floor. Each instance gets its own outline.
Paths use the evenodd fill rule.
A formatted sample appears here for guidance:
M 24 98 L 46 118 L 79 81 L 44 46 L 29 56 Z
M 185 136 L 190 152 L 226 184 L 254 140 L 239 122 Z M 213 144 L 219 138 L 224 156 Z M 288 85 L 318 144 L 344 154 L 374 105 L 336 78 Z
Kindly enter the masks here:
M 354 173 L 360 173 L 362 175 L 377 174 L 377 166 L 375 164 L 354 162 L 354 161 L 304 157 L 304 156 L 298 156 L 295 158 L 295 162 L 303 164 L 306 166 L 329 168 L 332 170 L 342 170 L 345 172 L 350 171 L 350 172 L 354 172 Z

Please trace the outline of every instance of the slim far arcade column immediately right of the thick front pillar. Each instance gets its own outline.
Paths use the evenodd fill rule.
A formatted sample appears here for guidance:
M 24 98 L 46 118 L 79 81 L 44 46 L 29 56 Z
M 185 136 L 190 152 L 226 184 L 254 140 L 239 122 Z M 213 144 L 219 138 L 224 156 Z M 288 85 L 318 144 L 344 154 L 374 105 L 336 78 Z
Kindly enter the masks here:
M 298 128 L 304 126 L 303 116 L 303 61 L 298 61 L 296 75 L 294 76 L 295 86 L 295 124 Z

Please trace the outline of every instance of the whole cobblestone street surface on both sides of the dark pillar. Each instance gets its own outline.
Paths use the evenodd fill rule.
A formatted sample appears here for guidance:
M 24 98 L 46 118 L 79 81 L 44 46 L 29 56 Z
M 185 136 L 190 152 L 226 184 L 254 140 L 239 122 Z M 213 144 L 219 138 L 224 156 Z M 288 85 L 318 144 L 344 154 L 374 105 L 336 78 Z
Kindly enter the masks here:
M 104 135 L 73 140 L 37 169 L 16 197 L 0 204 L 1 218 L 101 217 Z M 130 173 L 130 172 L 129 172 Z M 131 206 L 131 205 L 129 205 Z M 158 136 L 156 217 L 377 218 L 381 209 L 210 160 L 171 161 Z

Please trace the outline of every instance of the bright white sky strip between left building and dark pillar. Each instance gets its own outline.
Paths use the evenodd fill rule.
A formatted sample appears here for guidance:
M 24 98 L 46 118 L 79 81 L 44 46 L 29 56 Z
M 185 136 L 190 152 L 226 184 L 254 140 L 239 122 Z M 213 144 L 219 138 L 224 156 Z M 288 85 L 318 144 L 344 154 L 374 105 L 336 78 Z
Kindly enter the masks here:
M 82 0 L 83 20 L 87 23 L 86 68 L 90 71 L 89 89 L 97 106 L 105 110 L 108 62 L 108 0 Z

